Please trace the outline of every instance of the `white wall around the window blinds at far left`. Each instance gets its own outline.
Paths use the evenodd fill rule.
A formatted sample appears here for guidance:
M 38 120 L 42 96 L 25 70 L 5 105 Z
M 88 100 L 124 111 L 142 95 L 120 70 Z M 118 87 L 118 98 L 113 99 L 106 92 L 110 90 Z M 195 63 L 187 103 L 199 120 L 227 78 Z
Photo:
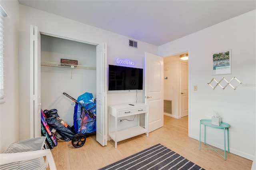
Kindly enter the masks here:
M 4 18 L 4 100 L 0 104 L 0 152 L 12 142 L 18 141 L 19 105 L 18 105 L 18 1 L 3 1 L 7 17 Z

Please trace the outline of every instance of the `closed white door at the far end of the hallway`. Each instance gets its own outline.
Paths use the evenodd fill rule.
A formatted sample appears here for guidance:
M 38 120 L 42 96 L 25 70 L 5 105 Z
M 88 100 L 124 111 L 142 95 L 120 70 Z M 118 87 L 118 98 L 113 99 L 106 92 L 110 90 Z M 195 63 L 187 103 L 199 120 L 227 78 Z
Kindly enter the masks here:
M 188 116 L 188 65 L 180 64 L 180 116 Z

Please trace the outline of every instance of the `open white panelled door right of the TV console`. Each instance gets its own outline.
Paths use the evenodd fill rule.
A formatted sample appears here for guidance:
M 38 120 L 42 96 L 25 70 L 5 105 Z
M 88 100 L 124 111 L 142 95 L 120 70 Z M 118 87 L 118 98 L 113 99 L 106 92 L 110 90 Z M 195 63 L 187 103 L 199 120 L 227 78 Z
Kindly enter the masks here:
M 164 125 L 164 61 L 145 53 L 145 101 L 149 106 L 148 132 Z

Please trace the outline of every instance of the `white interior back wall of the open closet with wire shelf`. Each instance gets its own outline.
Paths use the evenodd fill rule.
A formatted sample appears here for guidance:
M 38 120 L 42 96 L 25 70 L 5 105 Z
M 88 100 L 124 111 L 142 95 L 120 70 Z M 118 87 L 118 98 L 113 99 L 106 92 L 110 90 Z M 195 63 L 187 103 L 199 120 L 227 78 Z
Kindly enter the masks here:
M 65 67 L 61 59 L 77 61 Z M 88 92 L 96 99 L 96 45 L 41 34 L 41 109 L 57 109 L 70 127 L 74 106 L 63 92 L 77 99 Z

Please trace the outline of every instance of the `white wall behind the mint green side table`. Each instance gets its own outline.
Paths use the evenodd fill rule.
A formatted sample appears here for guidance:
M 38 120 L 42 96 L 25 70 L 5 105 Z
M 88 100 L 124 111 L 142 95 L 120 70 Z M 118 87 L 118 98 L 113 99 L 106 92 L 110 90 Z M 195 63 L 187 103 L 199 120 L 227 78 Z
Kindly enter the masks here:
M 256 143 L 256 10 L 161 45 L 158 55 L 189 51 L 189 136 L 198 140 L 200 119 L 211 119 L 214 111 L 230 124 L 230 152 L 250 160 Z M 212 53 L 232 50 L 232 74 L 212 75 Z M 212 78 L 238 78 L 236 90 L 212 89 Z M 232 82 L 233 83 L 233 82 Z M 193 91 L 193 86 L 198 91 Z M 223 132 L 208 128 L 209 144 L 223 148 Z M 203 138 L 203 135 L 202 135 Z

